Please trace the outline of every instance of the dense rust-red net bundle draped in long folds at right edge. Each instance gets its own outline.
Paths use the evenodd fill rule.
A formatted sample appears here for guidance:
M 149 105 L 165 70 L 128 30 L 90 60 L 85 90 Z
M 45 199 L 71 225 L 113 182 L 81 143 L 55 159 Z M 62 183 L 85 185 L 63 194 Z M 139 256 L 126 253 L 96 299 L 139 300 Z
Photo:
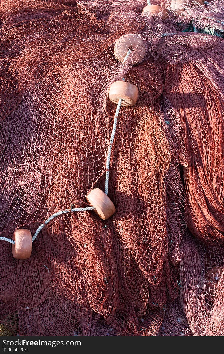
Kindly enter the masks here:
M 167 67 L 166 95 L 183 117 L 189 165 L 183 168 L 188 227 L 205 241 L 223 239 L 223 56 L 205 50 L 191 63 Z

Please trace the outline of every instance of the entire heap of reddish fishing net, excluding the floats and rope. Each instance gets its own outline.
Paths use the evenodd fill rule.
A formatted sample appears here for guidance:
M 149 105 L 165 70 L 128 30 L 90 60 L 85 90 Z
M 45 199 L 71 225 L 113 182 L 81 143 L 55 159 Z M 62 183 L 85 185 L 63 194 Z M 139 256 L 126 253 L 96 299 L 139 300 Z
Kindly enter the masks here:
M 224 2 L 181 15 L 166 2 L 167 19 L 146 5 L 1 0 L 0 236 L 33 235 L 104 190 L 110 85 L 139 89 L 112 148 L 115 215 L 59 216 L 27 260 L 0 241 L 0 323 L 14 335 L 224 335 Z M 143 39 L 140 64 L 115 59 L 124 34 Z

